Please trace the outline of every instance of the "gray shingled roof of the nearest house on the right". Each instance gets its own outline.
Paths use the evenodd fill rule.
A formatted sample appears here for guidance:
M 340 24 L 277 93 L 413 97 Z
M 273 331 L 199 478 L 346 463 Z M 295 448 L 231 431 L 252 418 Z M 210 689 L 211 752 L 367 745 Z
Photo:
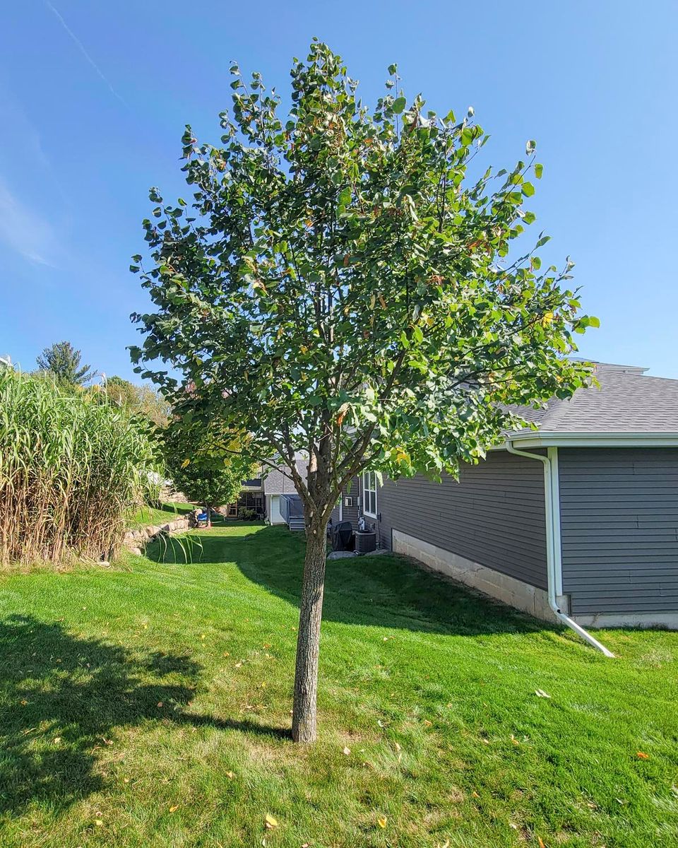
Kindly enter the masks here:
M 600 386 L 580 388 L 569 400 L 550 400 L 541 410 L 518 410 L 541 432 L 678 432 L 678 380 L 647 377 L 647 368 L 593 363 Z M 538 435 L 520 430 L 515 435 Z

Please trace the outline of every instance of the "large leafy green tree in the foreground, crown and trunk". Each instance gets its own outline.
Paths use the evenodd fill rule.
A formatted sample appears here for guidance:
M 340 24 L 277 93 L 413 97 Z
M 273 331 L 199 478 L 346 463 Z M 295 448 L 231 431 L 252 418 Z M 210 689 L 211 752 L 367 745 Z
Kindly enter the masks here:
M 151 261 L 131 266 L 155 305 L 132 316 L 146 333 L 137 371 L 178 415 L 243 427 L 264 463 L 281 455 L 303 501 L 299 741 L 316 735 L 325 531 L 342 486 L 365 468 L 439 477 L 480 460 L 519 423 L 518 405 L 586 383 L 573 332 L 597 323 L 563 286 L 569 260 L 542 271 L 546 236 L 509 256 L 535 220 L 524 208 L 542 176 L 535 143 L 526 161 L 471 179 L 488 138 L 473 110 L 440 118 L 389 73 L 370 110 L 340 57 L 313 42 L 281 118 L 261 76 L 247 84 L 234 64 L 220 144 L 186 126 L 191 208 L 153 188 Z M 295 449 L 308 452 L 306 479 Z

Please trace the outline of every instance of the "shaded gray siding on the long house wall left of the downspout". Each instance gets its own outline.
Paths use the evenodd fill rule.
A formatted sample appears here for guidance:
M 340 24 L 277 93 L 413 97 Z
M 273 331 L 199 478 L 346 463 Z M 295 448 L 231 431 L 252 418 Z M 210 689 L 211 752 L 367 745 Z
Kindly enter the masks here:
M 459 482 L 426 477 L 385 480 L 377 493 L 381 544 L 400 530 L 467 560 L 547 587 L 544 474 L 541 462 L 492 451 L 463 466 Z M 368 519 L 369 522 L 372 520 Z

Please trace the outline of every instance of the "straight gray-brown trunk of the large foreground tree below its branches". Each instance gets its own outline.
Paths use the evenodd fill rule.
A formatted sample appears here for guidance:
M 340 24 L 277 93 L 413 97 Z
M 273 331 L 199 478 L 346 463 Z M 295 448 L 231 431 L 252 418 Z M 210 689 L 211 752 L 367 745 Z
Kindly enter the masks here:
M 295 742 L 314 742 L 316 735 L 320 619 L 323 611 L 325 556 L 327 555 L 326 534 L 326 522 L 322 527 L 317 522 L 307 522 L 306 559 L 303 564 L 292 711 L 292 739 Z

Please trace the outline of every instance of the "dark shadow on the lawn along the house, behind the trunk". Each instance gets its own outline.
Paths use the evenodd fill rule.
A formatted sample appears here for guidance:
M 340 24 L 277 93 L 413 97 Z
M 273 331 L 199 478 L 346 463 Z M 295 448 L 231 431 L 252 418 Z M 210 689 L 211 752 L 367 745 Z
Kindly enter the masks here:
M 247 535 L 204 533 L 201 541 L 203 563 L 235 562 L 253 583 L 298 605 L 303 533 L 253 527 Z M 466 636 L 561 630 L 392 554 L 328 561 L 323 619 Z

